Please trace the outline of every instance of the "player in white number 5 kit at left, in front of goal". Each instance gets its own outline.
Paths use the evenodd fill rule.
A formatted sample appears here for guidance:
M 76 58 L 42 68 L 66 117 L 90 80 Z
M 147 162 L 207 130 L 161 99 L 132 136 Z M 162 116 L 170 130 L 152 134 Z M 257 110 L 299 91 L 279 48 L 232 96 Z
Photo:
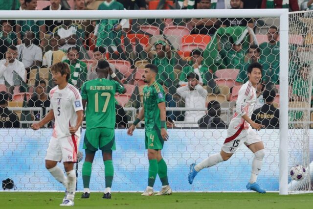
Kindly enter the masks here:
M 73 206 L 76 189 L 74 163 L 77 161 L 77 149 L 80 140 L 80 126 L 84 118 L 82 97 L 73 85 L 67 81 L 70 69 L 66 63 L 56 63 L 50 68 L 52 78 L 57 85 L 50 93 L 49 113 L 31 127 L 38 130 L 54 119 L 52 137 L 45 157 L 45 167 L 51 175 L 66 187 L 66 196 L 60 206 Z M 63 161 L 67 177 L 57 166 Z

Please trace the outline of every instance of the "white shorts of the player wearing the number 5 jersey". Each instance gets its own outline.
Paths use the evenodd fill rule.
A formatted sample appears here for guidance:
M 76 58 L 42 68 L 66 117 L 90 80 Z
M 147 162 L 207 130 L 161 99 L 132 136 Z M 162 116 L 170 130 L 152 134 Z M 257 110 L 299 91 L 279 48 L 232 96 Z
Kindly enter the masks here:
M 63 138 L 51 137 L 45 160 L 76 162 L 80 137 L 75 135 Z

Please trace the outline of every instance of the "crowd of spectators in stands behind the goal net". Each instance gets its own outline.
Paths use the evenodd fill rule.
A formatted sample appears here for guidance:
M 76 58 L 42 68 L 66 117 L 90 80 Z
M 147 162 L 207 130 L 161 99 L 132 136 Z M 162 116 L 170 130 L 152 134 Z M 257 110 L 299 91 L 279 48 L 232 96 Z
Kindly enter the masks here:
M 0 10 L 289 8 L 298 11 L 313 9 L 312 4 L 313 0 L 6 0 L 0 2 Z M 51 65 L 67 63 L 71 70 L 69 82 L 80 89 L 85 81 L 96 78 L 95 66 L 104 59 L 127 86 L 126 94 L 116 95 L 119 117 L 116 127 L 125 128 L 127 118 L 123 107 L 140 108 L 142 68 L 151 63 L 158 66 L 157 81 L 168 93 L 168 107 L 208 109 L 207 112 L 167 111 L 168 127 L 174 127 L 175 121 L 189 121 L 191 125 L 175 126 L 223 128 L 227 125 L 220 118 L 221 107 L 233 107 L 240 86 L 247 81 L 246 69 L 251 63 L 259 62 L 263 65 L 263 78 L 255 109 L 263 111 L 263 105 L 268 104 L 272 115 L 277 117 L 273 108 L 279 101 L 279 28 L 261 19 L 1 20 L 0 25 L 0 91 L 7 93 L 1 96 L 5 101 L 0 102 L 5 107 L 48 108 L 46 92 L 54 86 L 48 70 Z M 247 33 L 240 39 L 244 31 Z M 216 44 L 209 46 L 211 42 Z M 310 44 L 290 42 L 290 51 L 295 54 L 305 51 L 305 45 Z M 291 99 L 309 99 L 312 103 L 312 98 L 301 88 L 308 85 L 309 66 L 299 66 L 298 61 L 290 59 Z M 263 98 L 264 90 L 269 91 L 267 99 Z M 274 98 L 268 99 L 272 95 Z M 214 107 L 217 109 L 211 110 Z M 36 111 L 31 116 L 34 120 L 41 118 Z M 22 120 L 21 114 L 19 117 Z M 206 121 L 209 124 L 205 125 Z M 270 127 L 278 127 L 279 122 L 269 123 Z

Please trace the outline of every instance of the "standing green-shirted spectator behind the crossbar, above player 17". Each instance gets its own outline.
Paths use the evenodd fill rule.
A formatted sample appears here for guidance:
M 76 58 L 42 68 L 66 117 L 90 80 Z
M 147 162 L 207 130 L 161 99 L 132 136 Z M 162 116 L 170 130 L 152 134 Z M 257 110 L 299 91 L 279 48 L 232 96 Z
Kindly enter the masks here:
M 115 0 L 105 0 L 99 5 L 98 10 L 124 10 L 124 6 Z M 117 51 L 116 47 L 121 44 L 122 25 L 126 22 L 126 19 L 98 21 L 92 40 L 97 39 L 96 46 L 103 46 L 107 50 L 110 46 L 113 51 Z

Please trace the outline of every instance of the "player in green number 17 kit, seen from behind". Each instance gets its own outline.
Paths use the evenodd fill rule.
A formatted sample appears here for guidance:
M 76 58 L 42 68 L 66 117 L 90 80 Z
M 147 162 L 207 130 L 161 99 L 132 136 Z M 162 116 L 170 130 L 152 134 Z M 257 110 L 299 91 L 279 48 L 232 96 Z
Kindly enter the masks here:
M 102 151 L 105 165 L 106 189 L 103 197 L 111 199 L 111 186 L 114 174 L 112 163 L 112 150 L 115 150 L 114 126 L 115 126 L 115 99 L 116 92 L 125 93 L 122 82 L 110 69 L 105 60 L 98 62 L 96 72 L 97 79 L 87 81 L 81 89 L 83 107 L 86 109 L 86 133 L 84 137 L 84 149 L 86 152 L 83 164 L 82 176 L 84 193 L 82 198 L 89 198 L 89 182 L 91 166 L 98 148 Z M 114 80 L 106 79 L 110 73 Z

